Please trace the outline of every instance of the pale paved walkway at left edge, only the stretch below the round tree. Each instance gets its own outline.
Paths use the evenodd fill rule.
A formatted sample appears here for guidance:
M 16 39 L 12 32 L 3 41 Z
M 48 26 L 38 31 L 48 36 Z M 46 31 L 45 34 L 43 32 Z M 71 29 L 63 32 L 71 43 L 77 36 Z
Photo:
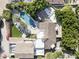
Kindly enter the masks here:
M 4 51 L 4 53 L 8 56 L 9 55 L 9 44 L 8 41 L 6 39 L 6 25 L 5 25 L 5 19 L 3 19 L 4 22 L 4 27 L 1 29 L 2 32 L 2 50 Z

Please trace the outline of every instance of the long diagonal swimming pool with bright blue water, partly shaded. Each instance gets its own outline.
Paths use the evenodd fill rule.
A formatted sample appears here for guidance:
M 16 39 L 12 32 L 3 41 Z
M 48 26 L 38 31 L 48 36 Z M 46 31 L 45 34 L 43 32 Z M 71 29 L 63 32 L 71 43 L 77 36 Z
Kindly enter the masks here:
M 20 12 L 21 18 L 25 21 L 26 24 L 31 25 L 33 28 L 37 27 L 36 22 L 29 15 L 25 14 L 25 12 Z

